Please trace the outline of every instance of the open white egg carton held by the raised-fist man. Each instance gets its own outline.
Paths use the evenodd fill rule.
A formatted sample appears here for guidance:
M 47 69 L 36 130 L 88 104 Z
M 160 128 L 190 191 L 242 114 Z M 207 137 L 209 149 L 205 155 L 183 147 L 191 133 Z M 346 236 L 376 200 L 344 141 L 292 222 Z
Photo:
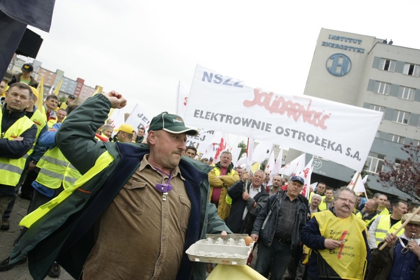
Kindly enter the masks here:
M 254 242 L 245 245 L 247 234 L 206 234 L 206 239 L 194 243 L 186 250 L 191 261 L 245 265 L 252 251 Z

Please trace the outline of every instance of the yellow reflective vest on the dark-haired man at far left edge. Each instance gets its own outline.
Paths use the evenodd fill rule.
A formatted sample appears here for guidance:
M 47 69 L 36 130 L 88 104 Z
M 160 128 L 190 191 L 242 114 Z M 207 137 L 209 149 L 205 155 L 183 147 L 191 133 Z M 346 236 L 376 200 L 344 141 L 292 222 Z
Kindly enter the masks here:
M 0 124 L 3 118 L 3 113 L 0 110 Z M 12 124 L 6 131 L 1 131 L 1 138 L 13 140 L 16 137 L 22 135 L 26 130 L 32 127 L 34 123 L 26 116 L 18 119 Z M 15 187 L 19 183 L 20 176 L 22 175 L 25 168 L 26 157 L 20 158 L 9 158 L 0 157 L 0 184 Z

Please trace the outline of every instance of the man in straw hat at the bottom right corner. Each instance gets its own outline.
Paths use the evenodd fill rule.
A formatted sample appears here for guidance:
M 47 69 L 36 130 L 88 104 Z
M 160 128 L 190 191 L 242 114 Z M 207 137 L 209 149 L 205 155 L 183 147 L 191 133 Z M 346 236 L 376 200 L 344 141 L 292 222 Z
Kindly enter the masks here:
M 412 215 L 405 214 L 401 222 L 404 223 Z M 372 252 L 367 280 L 419 279 L 414 276 L 414 272 L 419 270 L 419 234 L 420 216 L 414 215 L 404 227 L 402 236 L 397 237 L 393 234 L 386 236 L 384 241 L 388 243 L 387 246 L 382 251 L 375 249 Z

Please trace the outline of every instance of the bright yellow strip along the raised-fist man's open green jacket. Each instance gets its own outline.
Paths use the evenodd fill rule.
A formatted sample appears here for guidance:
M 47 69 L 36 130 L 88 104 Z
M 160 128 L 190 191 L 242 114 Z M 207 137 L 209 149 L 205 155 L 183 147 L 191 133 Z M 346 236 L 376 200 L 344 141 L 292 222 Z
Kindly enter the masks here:
M 104 170 L 109 164 L 114 161 L 114 156 L 109 154 L 108 151 L 104 152 L 98 159 L 95 161 L 95 165 L 89 169 L 85 174 L 83 174 L 73 185 L 69 188 L 63 190 L 57 197 L 51 199 L 44 205 L 41 205 L 35 211 L 31 212 L 30 214 L 26 215 L 19 223 L 21 226 L 30 227 L 35 221 L 39 218 L 42 218 L 45 214 L 47 214 L 51 209 L 59 205 L 63 202 L 66 198 L 68 198 L 73 191 L 78 189 L 79 187 L 86 184 L 89 180 L 95 177 L 98 173 Z

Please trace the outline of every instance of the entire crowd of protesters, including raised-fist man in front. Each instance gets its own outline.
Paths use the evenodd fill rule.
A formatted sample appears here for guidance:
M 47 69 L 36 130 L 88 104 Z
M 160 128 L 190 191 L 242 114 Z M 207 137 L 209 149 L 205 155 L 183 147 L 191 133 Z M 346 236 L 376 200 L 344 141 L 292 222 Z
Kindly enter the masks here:
M 300 176 L 270 183 L 228 151 L 201 157 L 185 147 L 198 131 L 167 112 L 147 131 L 105 124 L 126 104 L 113 91 L 79 106 L 48 95 L 37 108 L 32 71 L 24 64 L 0 85 L 0 229 L 18 193 L 31 200 L 0 271 L 29 258 L 34 279 L 59 277 L 60 265 L 76 279 L 204 279 L 214 266 L 185 249 L 206 233 L 237 233 L 255 241 L 247 263 L 268 279 L 419 279 L 415 205 L 322 182 L 307 199 Z

